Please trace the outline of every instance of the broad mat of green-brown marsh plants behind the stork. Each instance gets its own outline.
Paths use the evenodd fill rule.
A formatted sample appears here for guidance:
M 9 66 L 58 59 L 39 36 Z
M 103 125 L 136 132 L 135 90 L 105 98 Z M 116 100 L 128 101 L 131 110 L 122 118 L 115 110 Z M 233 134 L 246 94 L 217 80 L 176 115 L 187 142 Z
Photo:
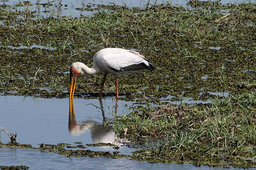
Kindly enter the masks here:
M 140 51 L 157 68 L 155 73 L 139 72 L 138 79 L 135 74 L 129 79 L 120 77 L 124 100 L 139 101 L 141 94 L 152 101 L 167 96 L 176 100 L 181 95 L 207 100 L 211 97 L 208 91 L 240 93 L 245 90 L 238 88 L 241 80 L 255 79 L 252 71 L 245 71 L 255 70 L 255 4 L 191 10 L 170 4 L 147 10 L 101 8 L 108 12 L 78 18 L 26 19 L 19 18 L 22 11 L 3 7 L 0 93 L 67 97 L 71 63 L 90 64 L 103 47 Z M 216 46 L 221 48 L 209 48 Z M 208 75 L 207 80 L 201 79 L 204 75 Z M 76 97 L 98 92 L 101 82 L 97 80 L 101 79 L 79 79 Z M 106 81 L 110 92 L 112 79 Z M 109 91 L 105 91 L 107 95 L 114 95 Z

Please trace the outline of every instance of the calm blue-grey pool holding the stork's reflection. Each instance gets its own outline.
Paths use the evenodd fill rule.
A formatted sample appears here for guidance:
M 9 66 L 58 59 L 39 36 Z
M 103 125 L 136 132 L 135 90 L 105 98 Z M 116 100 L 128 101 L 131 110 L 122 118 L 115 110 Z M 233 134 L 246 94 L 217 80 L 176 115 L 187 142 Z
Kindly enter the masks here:
M 73 144 L 76 141 L 122 145 L 113 129 L 102 125 L 103 120 L 115 115 L 115 102 L 111 98 L 102 100 L 103 107 L 98 99 L 74 99 L 75 112 L 72 116 L 69 115 L 69 99 L 0 96 L 0 103 L 0 127 L 17 133 L 19 143 L 29 143 L 33 147 L 38 147 L 39 143 Z M 118 103 L 120 107 L 117 114 L 127 113 L 124 105 L 129 103 Z M 9 142 L 4 132 L 1 133 L 1 139 L 2 142 Z

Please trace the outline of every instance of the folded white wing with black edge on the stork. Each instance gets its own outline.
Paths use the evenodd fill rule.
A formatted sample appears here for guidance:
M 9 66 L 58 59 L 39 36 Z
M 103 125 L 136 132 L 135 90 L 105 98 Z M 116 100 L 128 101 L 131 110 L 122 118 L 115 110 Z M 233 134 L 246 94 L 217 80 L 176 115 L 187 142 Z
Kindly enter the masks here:
M 150 64 L 145 57 L 138 52 L 125 51 L 104 57 L 106 66 L 117 72 L 150 69 Z

